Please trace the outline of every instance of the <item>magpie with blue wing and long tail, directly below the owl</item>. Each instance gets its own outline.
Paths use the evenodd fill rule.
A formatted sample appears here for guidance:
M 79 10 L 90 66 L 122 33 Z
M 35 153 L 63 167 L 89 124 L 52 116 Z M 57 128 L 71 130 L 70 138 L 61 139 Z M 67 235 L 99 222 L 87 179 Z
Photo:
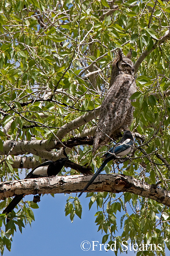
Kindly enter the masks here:
M 111 161 L 113 159 L 116 159 L 114 154 L 116 156 L 125 156 L 131 151 L 132 145 L 133 145 L 133 137 L 132 137 L 131 132 L 130 131 L 124 131 L 122 139 L 116 145 L 109 148 L 108 152 L 102 156 L 102 158 L 104 157 L 104 161 L 103 161 L 102 165 L 99 167 L 97 172 L 92 176 L 91 180 L 87 183 L 87 185 L 83 188 L 79 197 L 84 192 L 84 190 L 86 190 L 91 185 L 91 183 L 96 179 L 96 177 L 103 170 L 105 165 L 109 161 Z

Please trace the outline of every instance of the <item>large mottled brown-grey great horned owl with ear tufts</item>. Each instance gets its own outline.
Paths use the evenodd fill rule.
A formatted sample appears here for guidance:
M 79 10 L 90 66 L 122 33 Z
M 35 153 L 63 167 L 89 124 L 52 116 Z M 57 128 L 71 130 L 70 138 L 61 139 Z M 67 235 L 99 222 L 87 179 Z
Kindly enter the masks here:
M 92 155 L 111 138 L 117 139 L 120 131 L 128 130 L 133 121 L 134 107 L 131 101 L 134 100 L 129 98 L 136 91 L 136 82 L 131 54 L 132 50 L 125 57 L 119 49 L 113 62 L 109 90 L 100 109 Z

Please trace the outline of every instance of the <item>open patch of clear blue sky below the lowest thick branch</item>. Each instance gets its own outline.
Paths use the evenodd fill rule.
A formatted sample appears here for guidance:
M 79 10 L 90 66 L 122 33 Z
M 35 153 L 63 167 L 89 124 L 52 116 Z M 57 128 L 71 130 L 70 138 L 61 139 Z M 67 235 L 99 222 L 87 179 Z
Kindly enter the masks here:
M 11 252 L 6 248 L 4 256 L 47 256 L 47 255 L 69 255 L 69 256 L 100 256 L 115 255 L 114 252 L 105 250 L 102 247 L 96 248 L 96 251 L 83 251 L 80 247 L 85 240 L 102 241 L 101 231 L 97 232 L 98 226 L 95 224 L 97 212 L 96 204 L 88 210 L 90 198 L 85 198 L 86 193 L 80 198 L 82 203 L 82 219 L 74 217 L 71 223 L 69 215 L 65 216 L 65 204 L 67 195 L 56 194 L 54 198 L 51 195 L 44 195 L 38 203 L 39 209 L 33 209 L 35 222 L 32 227 L 29 225 L 23 229 L 22 234 L 18 231 L 14 233 Z M 25 200 L 32 200 L 33 196 L 26 196 Z M 135 253 L 120 254 L 126 256 L 135 256 Z

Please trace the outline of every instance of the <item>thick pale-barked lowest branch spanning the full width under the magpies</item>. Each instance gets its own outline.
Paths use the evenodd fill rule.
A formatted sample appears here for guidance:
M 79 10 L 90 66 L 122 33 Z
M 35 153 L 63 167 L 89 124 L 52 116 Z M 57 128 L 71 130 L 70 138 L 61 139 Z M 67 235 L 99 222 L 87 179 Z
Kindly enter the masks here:
M 1 182 L 0 200 L 20 194 L 77 193 L 84 188 L 91 177 L 91 175 L 70 175 Z M 129 192 L 170 207 L 170 191 L 158 188 L 157 184 L 146 184 L 131 176 L 100 174 L 86 191 Z

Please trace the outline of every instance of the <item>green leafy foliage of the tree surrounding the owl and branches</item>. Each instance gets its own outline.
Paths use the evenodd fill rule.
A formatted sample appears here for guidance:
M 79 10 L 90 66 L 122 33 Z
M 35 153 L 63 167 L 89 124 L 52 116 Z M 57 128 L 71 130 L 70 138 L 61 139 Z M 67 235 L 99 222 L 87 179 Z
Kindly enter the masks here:
M 145 144 L 139 146 L 141 141 L 136 139 L 134 157 L 113 168 L 108 163 L 105 171 L 131 175 L 149 184 L 161 180 L 160 186 L 170 189 L 166 164 L 170 163 L 170 43 L 167 38 L 155 45 L 170 29 L 170 5 L 160 0 L 114 4 L 115 9 L 106 0 L 0 2 L 0 125 L 4 128 L 10 124 L 7 133 L 0 131 L 1 181 L 19 179 L 12 153 L 5 152 L 4 158 L 4 141 L 50 141 L 60 127 L 101 105 L 111 76 L 109 66 L 118 47 L 124 54 L 132 48 L 134 62 L 144 51 L 150 52 L 136 74 L 138 91 L 132 96 L 136 102 L 132 103 L 135 111 L 131 130 L 142 135 Z M 93 119 L 72 130 L 63 141 L 94 127 L 96 122 Z M 99 153 L 106 150 L 103 147 Z M 36 155 L 35 151 L 29 153 Z M 40 161 L 43 156 L 37 155 L 35 159 Z M 91 146 L 87 145 L 74 147 L 70 158 L 92 168 L 101 164 L 98 157 L 91 160 Z M 99 230 L 106 233 L 103 243 L 130 238 L 133 243 L 161 243 L 162 248 L 166 244 L 170 249 L 169 210 L 163 205 L 128 193 L 118 197 L 106 192 L 89 193 L 88 197 L 89 208 L 96 202 L 103 209 L 96 213 Z M 131 205 L 130 210 L 126 203 Z M 2 202 L 0 207 L 3 209 L 5 204 Z M 68 198 L 65 211 L 71 221 L 74 214 L 81 217 L 76 197 Z M 118 221 L 117 211 L 122 214 Z M 11 214 L 17 218 L 6 225 L 5 232 L 1 229 L 1 254 L 4 245 L 10 250 L 15 226 L 21 231 L 23 219 L 26 223 L 34 219 L 25 204 L 22 211 Z M 5 216 L 0 220 L 2 227 Z M 121 236 L 117 225 L 124 225 Z M 142 253 L 153 255 L 150 251 Z M 155 253 L 164 255 L 164 250 Z

